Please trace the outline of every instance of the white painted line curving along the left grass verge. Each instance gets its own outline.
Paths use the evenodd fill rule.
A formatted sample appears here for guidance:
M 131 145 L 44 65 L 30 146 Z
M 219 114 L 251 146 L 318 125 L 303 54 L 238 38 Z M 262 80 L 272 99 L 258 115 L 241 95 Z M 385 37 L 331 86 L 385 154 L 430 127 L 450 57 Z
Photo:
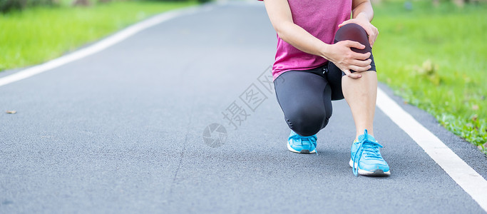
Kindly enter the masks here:
M 34 76 L 36 74 L 43 73 L 44 71 L 49 71 L 53 68 L 63 66 L 66 63 L 76 61 L 80 58 L 89 56 L 91 54 L 96 54 L 99 51 L 103 51 L 103 49 L 106 49 L 110 46 L 113 46 L 114 44 L 118 44 L 119 42 L 127 39 L 128 37 L 133 36 L 134 34 L 137 34 L 140 31 L 143 31 L 144 29 L 148 29 L 151 26 L 155 26 L 156 24 L 160 24 L 163 21 L 168 21 L 170 19 L 174 19 L 177 16 L 194 14 L 196 11 L 198 11 L 198 9 L 206 11 L 206 10 L 211 9 L 211 8 L 210 8 L 210 6 L 200 6 L 200 7 L 193 6 L 193 7 L 186 8 L 186 9 L 178 9 L 178 10 L 174 10 L 174 11 L 168 11 L 168 12 L 165 12 L 163 14 L 158 14 L 156 16 L 153 16 L 150 19 L 147 19 L 145 21 L 141 21 L 137 24 L 129 26 L 128 28 L 123 29 L 122 31 L 118 31 L 118 33 L 113 34 L 112 36 L 108 36 L 106 39 L 98 41 L 96 44 L 88 46 L 84 49 L 74 51 L 71 54 L 61 56 L 59 58 L 53 59 L 53 60 L 48 61 L 46 63 L 42 63 L 38 66 L 32 66 L 31 68 L 26 68 L 23 71 L 13 73 L 9 76 L 4 76 L 3 78 L 0 78 L 0 86 L 5 86 L 6 84 L 14 83 L 14 82 L 22 80 L 24 78 L 29 78 L 29 77 Z

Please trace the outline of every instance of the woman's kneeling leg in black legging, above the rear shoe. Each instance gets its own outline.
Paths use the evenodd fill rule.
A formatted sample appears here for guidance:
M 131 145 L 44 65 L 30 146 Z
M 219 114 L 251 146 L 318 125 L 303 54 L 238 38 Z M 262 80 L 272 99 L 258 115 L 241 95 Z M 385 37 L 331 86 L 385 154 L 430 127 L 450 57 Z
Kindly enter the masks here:
M 274 81 L 277 102 L 289 128 L 299 136 L 313 136 L 332 116 L 331 88 L 322 76 L 287 71 Z

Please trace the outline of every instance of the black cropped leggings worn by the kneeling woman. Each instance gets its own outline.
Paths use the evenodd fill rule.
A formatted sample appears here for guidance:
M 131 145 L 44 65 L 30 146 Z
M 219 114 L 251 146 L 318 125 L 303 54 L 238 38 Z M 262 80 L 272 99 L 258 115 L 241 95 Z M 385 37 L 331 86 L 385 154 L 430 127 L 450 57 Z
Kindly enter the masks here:
M 343 40 L 358 41 L 365 46 L 352 51 L 371 52 L 367 34 L 358 24 L 347 24 L 337 31 L 334 43 Z M 376 71 L 374 57 L 370 58 L 370 71 Z M 275 79 L 277 102 L 292 131 L 300 136 L 312 136 L 327 126 L 332 116 L 332 101 L 344 98 L 342 76 L 344 73 L 334 63 L 327 62 L 311 70 L 286 71 Z

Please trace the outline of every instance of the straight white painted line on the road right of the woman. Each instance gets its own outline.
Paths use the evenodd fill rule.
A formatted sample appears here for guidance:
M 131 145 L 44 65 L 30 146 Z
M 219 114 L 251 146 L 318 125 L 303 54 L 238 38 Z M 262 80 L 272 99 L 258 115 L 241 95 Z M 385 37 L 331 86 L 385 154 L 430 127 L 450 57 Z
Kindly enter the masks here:
M 487 180 L 453 153 L 439 138 L 416 121 L 380 88 L 377 106 L 404 130 L 421 148 L 487 212 Z

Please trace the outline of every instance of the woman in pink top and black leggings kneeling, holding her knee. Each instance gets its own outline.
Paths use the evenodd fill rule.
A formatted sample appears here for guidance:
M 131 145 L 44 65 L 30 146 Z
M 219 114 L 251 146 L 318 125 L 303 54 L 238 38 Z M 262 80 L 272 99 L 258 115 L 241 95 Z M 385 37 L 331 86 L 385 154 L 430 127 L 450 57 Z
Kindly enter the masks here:
M 374 139 L 377 75 L 371 46 L 378 31 L 368 0 L 264 0 L 277 32 L 272 66 L 275 91 L 291 128 L 287 148 L 316 153 L 316 133 L 332 116 L 332 100 L 345 98 L 356 138 L 354 175 L 390 175 Z M 350 15 L 352 13 L 352 19 Z M 285 79 L 285 81 L 284 81 Z

